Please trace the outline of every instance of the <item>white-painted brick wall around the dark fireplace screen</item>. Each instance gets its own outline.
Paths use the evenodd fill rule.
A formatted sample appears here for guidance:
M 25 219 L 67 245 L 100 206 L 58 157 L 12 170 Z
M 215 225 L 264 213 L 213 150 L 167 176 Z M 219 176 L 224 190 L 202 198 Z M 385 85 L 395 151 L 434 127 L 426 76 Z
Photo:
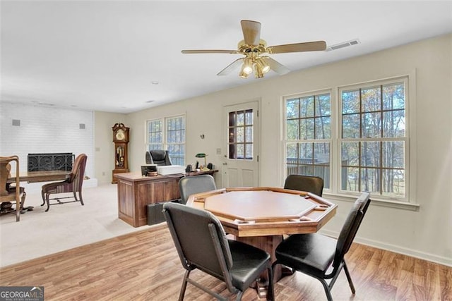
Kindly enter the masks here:
M 2 156 L 18 155 L 20 171 L 27 171 L 28 154 L 85 153 L 85 175 L 93 178 L 93 112 L 8 102 L 1 102 L 0 107 L 0 152 Z M 20 121 L 20 126 L 12 125 L 13 119 Z

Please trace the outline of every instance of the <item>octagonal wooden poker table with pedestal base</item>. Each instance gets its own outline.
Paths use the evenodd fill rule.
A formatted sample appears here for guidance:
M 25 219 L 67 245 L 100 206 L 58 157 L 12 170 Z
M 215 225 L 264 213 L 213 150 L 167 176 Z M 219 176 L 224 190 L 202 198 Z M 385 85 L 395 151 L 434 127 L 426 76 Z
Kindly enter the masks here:
M 226 233 L 266 250 L 275 249 L 285 234 L 315 233 L 329 221 L 337 205 L 309 192 L 282 188 L 227 188 L 191 195 L 187 206 L 210 211 Z M 274 271 L 281 278 L 280 265 Z

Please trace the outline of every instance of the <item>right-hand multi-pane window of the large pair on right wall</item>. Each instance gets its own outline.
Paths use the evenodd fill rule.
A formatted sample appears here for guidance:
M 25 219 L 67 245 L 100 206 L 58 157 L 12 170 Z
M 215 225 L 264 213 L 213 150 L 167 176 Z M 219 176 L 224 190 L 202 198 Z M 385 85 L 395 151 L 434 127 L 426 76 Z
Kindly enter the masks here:
M 340 189 L 405 197 L 405 81 L 339 91 Z

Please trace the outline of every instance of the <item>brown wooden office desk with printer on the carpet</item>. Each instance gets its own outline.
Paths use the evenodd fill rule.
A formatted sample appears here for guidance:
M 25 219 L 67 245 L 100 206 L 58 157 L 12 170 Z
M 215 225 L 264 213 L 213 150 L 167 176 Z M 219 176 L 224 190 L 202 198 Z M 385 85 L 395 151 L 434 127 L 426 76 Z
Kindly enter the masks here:
M 116 173 L 118 185 L 118 216 L 133 227 L 148 224 L 148 204 L 180 199 L 179 180 L 184 176 L 198 176 L 217 172 L 200 171 L 167 176 L 141 176 L 141 173 Z

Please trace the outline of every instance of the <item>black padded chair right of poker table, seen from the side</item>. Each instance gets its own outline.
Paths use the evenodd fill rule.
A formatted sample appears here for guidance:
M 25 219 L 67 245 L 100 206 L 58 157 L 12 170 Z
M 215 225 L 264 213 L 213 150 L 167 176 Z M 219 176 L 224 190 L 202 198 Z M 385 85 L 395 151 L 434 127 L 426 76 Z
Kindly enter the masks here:
M 369 192 L 363 192 L 359 196 L 353 204 L 337 240 L 318 233 L 290 235 L 276 247 L 276 261 L 273 263 L 273 267 L 276 264 L 283 264 L 318 279 L 322 283 L 329 301 L 333 300 L 331 288 L 333 288 L 340 271 L 344 269 L 350 289 L 355 294 L 355 286 L 345 264 L 344 256 L 352 245 L 370 201 Z M 326 282 L 327 279 L 331 279 L 329 284 Z

